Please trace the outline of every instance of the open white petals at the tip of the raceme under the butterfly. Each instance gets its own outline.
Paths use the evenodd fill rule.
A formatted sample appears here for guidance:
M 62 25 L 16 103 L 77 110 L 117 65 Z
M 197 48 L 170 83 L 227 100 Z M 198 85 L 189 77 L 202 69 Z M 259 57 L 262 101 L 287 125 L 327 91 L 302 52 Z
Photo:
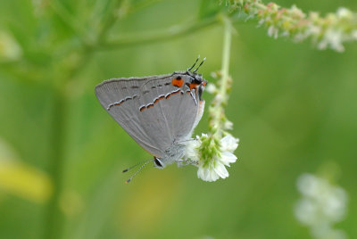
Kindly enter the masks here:
M 237 149 L 239 139 L 227 135 L 220 139 L 220 148 L 214 154 L 210 161 L 202 158 L 200 146 L 207 135 L 196 136 L 195 142 L 187 146 L 187 158 L 195 161 L 198 167 L 197 177 L 203 181 L 213 182 L 217 179 L 226 178 L 229 176 L 226 166 L 230 167 L 230 163 L 236 162 L 237 157 L 233 152 Z

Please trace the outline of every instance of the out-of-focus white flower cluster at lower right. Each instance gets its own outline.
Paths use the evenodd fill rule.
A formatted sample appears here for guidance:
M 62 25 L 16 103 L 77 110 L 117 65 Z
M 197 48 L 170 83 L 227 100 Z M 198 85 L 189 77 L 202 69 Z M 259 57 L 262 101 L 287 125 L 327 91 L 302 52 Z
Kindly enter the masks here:
M 345 190 L 311 174 L 299 177 L 297 187 L 303 197 L 295 206 L 295 217 L 311 228 L 311 235 L 317 239 L 347 238 L 344 231 L 333 228 L 345 218 Z

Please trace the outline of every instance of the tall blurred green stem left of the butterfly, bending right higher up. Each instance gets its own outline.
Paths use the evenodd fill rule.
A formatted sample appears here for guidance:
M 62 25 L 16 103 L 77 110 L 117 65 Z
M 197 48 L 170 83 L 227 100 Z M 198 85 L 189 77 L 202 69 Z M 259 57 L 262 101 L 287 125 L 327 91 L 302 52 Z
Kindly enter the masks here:
M 96 44 L 99 45 L 100 41 L 104 39 L 107 35 L 107 31 L 112 27 L 115 22 L 115 16 L 109 16 L 108 20 L 104 22 L 102 29 L 98 31 L 96 37 Z M 95 45 L 96 46 L 96 45 Z M 91 47 L 85 42 L 82 42 L 79 54 L 81 54 L 81 60 L 79 63 L 67 69 L 67 74 L 63 73 L 63 77 L 59 78 L 58 81 L 54 80 L 54 86 L 52 87 L 54 103 L 53 103 L 53 114 L 52 114 L 52 132 L 50 136 L 51 140 L 51 152 L 49 155 L 50 165 L 49 173 L 53 178 L 54 184 L 54 194 L 48 202 L 46 211 L 46 227 L 44 238 L 46 239 L 57 239 L 62 237 L 62 227 L 64 222 L 64 215 L 60 208 L 60 200 L 62 194 L 62 172 L 64 165 L 64 134 L 66 130 L 65 125 L 65 112 L 68 107 L 66 101 L 67 95 L 65 94 L 65 87 L 67 83 L 79 73 L 79 70 L 87 64 L 90 56 L 95 50 L 95 46 Z

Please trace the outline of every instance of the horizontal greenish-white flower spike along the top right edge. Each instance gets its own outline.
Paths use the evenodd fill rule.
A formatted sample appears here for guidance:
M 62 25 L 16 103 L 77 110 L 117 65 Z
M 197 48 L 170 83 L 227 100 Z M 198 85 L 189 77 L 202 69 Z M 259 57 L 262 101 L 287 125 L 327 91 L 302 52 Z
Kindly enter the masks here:
M 259 26 L 268 28 L 270 37 L 291 37 L 296 42 L 311 38 L 318 49 L 345 51 L 343 43 L 357 41 L 357 13 L 340 7 L 335 13 L 320 17 L 318 12 L 304 13 L 293 5 L 263 4 L 262 0 L 230 0 L 231 10 L 242 9 L 248 18 L 256 17 Z

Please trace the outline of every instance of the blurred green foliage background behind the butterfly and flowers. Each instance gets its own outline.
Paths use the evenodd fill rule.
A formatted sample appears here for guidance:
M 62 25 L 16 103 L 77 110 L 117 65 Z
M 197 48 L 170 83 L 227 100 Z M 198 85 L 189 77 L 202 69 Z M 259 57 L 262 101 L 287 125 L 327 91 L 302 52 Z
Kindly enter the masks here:
M 276 3 L 357 11 L 346 0 Z M 357 44 L 318 51 L 237 16 L 226 113 L 240 145 L 229 177 L 207 183 L 195 167 L 173 165 L 124 184 L 121 170 L 150 155 L 102 109 L 95 85 L 185 70 L 198 54 L 214 81 L 223 38 L 215 16 L 225 9 L 192 0 L 0 2 L 0 238 L 311 238 L 295 219 L 296 178 L 321 171 L 349 194 L 336 227 L 357 238 Z M 206 112 L 195 134 L 207 125 Z

